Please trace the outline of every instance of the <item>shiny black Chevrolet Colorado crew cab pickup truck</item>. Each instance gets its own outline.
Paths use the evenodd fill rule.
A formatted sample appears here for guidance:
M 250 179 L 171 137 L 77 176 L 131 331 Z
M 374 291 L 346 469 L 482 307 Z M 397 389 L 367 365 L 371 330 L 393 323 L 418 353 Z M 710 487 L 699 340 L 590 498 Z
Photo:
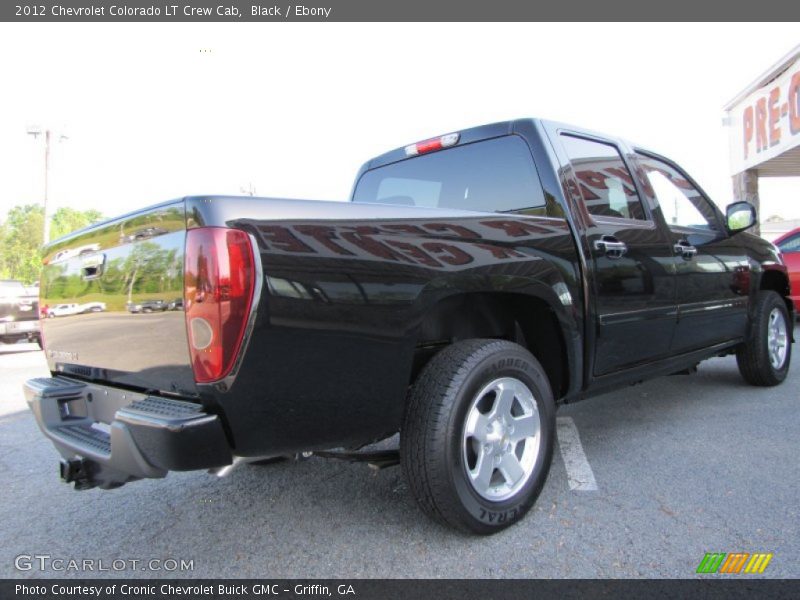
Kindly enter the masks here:
M 532 119 L 370 160 L 351 202 L 181 198 L 49 245 L 41 302 L 107 310 L 43 323 L 52 376 L 26 395 L 78 489 L 399 431 L 422 509 L 492 533 L 541 491 L 560 403 L 734 353 L 751 384 L 785 379 L 794 308 L 755 218 Z

